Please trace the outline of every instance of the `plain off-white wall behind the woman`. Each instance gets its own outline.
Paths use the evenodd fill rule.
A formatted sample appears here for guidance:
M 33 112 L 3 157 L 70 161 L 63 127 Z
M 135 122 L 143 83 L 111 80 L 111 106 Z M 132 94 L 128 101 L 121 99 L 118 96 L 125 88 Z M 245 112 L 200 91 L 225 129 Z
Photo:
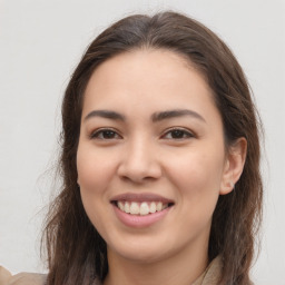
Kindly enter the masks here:
M 232 48 L 264 128 L 264 224 L 257 285 L 285 284 L 285 2 L 277 0 L 1 0 L 0 264 L 45 272 L 40 233 L 55 191 L 60 102 L 87 45 L 130 13 L 174 9 Z

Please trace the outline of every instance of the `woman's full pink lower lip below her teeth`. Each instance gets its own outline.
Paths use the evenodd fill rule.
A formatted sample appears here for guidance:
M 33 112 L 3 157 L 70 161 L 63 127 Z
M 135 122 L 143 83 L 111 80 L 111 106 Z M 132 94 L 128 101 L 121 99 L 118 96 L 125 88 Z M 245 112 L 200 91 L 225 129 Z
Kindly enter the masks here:
M 130 215 L 122 210 L 120 210 L 117 206 L 112 205 L 114 210 L 118 219 L 128 227 L 149 227 L 155 223 L 161 220 L 169 212 L 171 207 L 163 209 L 160 212 L 156 212 L 154 214 L 148 214 L 145 216 L 140 215 Z

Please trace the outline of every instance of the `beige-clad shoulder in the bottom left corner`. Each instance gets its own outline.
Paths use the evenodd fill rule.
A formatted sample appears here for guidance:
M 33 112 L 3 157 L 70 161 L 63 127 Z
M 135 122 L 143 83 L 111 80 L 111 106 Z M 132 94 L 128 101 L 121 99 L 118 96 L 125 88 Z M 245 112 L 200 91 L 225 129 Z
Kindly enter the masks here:
M 0 285 L 45 285 L 47 275 L 37 273 L 19 273 L 11 275 L 0 266 Z

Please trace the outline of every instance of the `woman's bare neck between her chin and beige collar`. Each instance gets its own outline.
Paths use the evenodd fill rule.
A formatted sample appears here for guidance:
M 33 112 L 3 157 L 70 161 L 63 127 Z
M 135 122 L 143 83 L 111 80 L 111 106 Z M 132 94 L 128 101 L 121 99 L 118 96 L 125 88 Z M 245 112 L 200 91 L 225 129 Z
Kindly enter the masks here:
M 176 256 L 154 262 L 137 262 L 108 250 L 109 273 L 104 285 L 189 285 L 206 269 L 207 245 L 181 250 Z

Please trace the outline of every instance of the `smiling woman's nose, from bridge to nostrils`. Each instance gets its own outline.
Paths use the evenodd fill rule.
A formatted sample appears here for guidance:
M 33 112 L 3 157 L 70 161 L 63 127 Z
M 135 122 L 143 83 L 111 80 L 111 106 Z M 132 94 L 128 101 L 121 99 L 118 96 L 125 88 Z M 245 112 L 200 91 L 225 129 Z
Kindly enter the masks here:
M 161 176 L 157 149 L 149 139 L 136 139 L 126 145 L 118 175 L 125 180 L 141 184 Z

